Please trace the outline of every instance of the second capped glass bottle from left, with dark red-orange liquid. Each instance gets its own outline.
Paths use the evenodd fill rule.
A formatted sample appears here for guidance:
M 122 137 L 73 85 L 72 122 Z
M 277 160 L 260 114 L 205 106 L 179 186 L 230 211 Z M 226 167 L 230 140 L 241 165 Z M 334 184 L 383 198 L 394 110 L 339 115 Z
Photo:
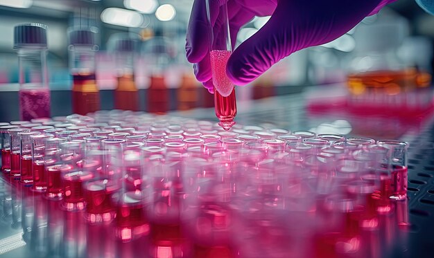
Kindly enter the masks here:
M 85 115 L 100 109 L 95 77 L 97 28 L 69 29 L 69 69 L 73 77 L 72 111 Z

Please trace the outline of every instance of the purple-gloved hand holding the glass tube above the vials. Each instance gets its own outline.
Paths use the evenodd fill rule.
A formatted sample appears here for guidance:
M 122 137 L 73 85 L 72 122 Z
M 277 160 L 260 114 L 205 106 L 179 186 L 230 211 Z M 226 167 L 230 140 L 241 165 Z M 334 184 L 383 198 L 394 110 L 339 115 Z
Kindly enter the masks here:
M 229 79 L 245 85 L 280 59 L 331 42 L 395 0 L 210 0 L 214 38 L 219 36 L 220 26 L 216 12 L 225 1 L 232 46 L 241 26 L 255 15 L 271 15 L 265 26 L 234 50 L 227 63 Z M 205 0 L 195 0 L 186 35 L 186 56 L 194 63 L 196 78 L 212 92 L 208 24 Z

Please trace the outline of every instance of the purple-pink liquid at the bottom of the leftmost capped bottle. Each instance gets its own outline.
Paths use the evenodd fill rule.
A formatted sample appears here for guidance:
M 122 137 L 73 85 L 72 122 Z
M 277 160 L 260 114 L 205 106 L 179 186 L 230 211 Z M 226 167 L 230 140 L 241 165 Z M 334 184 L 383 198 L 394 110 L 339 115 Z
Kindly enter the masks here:
M 21 120 L 50 117 L 49 89 L 20 89 L 19 111 Z

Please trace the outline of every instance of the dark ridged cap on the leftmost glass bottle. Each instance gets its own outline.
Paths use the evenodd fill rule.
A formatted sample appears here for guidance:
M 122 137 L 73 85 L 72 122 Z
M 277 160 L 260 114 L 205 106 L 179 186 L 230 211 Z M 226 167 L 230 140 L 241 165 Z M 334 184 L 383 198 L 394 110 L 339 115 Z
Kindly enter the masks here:
M 19 24 L 14 28 L 14 49 L 25 47 L 46 49 L 45 24 Z

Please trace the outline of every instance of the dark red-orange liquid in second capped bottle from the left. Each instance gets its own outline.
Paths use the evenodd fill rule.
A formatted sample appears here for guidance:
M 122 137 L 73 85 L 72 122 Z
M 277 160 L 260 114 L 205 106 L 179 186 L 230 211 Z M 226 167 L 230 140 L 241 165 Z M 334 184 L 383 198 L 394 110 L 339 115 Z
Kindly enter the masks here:
M 95 74 L 73 75 L 72 111 L 79 115 L 100 109 L 99 90 Z

